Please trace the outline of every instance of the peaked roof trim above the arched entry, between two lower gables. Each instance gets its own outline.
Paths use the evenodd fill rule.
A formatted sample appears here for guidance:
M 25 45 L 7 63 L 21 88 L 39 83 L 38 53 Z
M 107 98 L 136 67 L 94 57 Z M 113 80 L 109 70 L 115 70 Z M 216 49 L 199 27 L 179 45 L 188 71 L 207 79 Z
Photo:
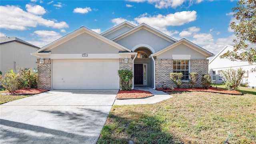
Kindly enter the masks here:
M 152 28 L 151 26 L 148 26 L 147 24 L 144 24 L 144 23 L 136 26 L 135 28 L 132 28 L 131 30 L 128 30 L 127 32 L 124 32 L 123 34 L 120 34 L 119 36 L 116 36 L 115 38 L 112 38 L 111 40 L 116 42 L 126 36 L 129 36 L 130 34 L 133 34 L 134 32 L 137 32 L 138 30 L 140 30 L 142 28 L 156 34 L 157 36 L 160 36 L 161 38 L 164 38 L 165 40 L 167 40 L 169 42 L 172 42 L 172 43 L 177 42 L 177 40 L 175 40 L 174 38 L 160 32 L 159 30 L 156 30 L 155 28 Z

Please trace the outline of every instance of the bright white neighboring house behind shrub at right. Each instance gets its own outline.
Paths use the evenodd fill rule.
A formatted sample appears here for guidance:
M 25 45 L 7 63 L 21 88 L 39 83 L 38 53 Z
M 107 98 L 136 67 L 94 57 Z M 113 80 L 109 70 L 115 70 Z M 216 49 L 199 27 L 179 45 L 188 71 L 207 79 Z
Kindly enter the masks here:
M 256 45 L 250 45 L 250 47 L 256 48 Z M 249 82 L 249 86 L 256 87 L 256 72 L 251 72 L 252 68 L 256 67 L 256 64 L 248 64 L 248 62 L 241 61 L 231 61 L 229 59 L 223 58 L 220 56 L 227 52 L 228 50 L 233 50 L 232 45 L 225 46 L 212 60 L 209 62 L 209 74 L 212 77 L 212 83 L 214 84 L 222 84 L 224 83 L 224 78 L 222 71 L 226 69 L 237 69 L 242 68 L 246 71 L 244 76 L 242 77 L 242 83 Z

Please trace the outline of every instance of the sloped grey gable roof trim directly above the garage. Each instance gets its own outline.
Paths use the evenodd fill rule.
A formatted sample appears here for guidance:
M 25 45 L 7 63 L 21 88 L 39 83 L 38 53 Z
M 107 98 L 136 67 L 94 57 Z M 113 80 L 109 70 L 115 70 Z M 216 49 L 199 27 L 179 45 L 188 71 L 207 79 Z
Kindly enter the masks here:
M 55 40 L 54 42 L 51 42 L 50 44 L 47 44 L 46 46 L 40 48 L 39 50 L 37 50 L 36 52 L 43 52 L 43 51 L 49 51 L 51 50 L 52 48 L 55 48 L 56 46 L 59 46 L 60 44 L 63 44 L 64 42 L 67 42 L 68 40 L 82 34 L 82 33 L 87 33 L 87 34 L 90 34 L 91 36 L 94 36 L 96 38 L 98 38 L 99 40 L 102 40 L 116 48 L 118 48 L 119 50 L 123 50 L 123 51 L 128 51 L 128 52 L 131 52 L 131 50 L 129 50 L 128 48 L 120 45 L 120 44 L 117 44 L 116 42 L 113 42 L 112 40 L 109 40 L 108 38 L 105 38 L 104 36 L 82 26 L 81 28 L 78 28 L 77 30 L 67 34 L 66 36 L 63 36 L 61 38 L 59 38 L 58 40 Z

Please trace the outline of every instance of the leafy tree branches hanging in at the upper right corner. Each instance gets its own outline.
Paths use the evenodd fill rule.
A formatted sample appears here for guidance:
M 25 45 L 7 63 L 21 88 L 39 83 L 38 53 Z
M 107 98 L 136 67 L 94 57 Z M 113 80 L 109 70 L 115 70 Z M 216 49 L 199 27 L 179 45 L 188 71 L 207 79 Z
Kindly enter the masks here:
M 247 61 L 249 64 L 256 62 L 256 49 L 252 45 L 256 44 L 256 0 L 240 0 L 237 6 L 232 8 L 234 17 L 240 22 L 230 23 L 230 27 L 234 30 L 236 39 L 233 51 L 227 51 L 220 58 L 228 58 L 232 61 Z M 256 71 L 256 68 L 254 68 Z

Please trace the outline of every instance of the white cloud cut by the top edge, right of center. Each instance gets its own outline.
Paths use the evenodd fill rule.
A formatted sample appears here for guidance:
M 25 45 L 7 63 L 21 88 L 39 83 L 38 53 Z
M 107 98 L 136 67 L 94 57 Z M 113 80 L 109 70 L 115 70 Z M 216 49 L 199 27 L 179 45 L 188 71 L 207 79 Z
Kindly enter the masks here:
M 155 4 L 155 8 L 176 8 L 177 6 L 180 6 L 183 4 L 184 0 L 152 0 L 148 1 L 149 3 Z

